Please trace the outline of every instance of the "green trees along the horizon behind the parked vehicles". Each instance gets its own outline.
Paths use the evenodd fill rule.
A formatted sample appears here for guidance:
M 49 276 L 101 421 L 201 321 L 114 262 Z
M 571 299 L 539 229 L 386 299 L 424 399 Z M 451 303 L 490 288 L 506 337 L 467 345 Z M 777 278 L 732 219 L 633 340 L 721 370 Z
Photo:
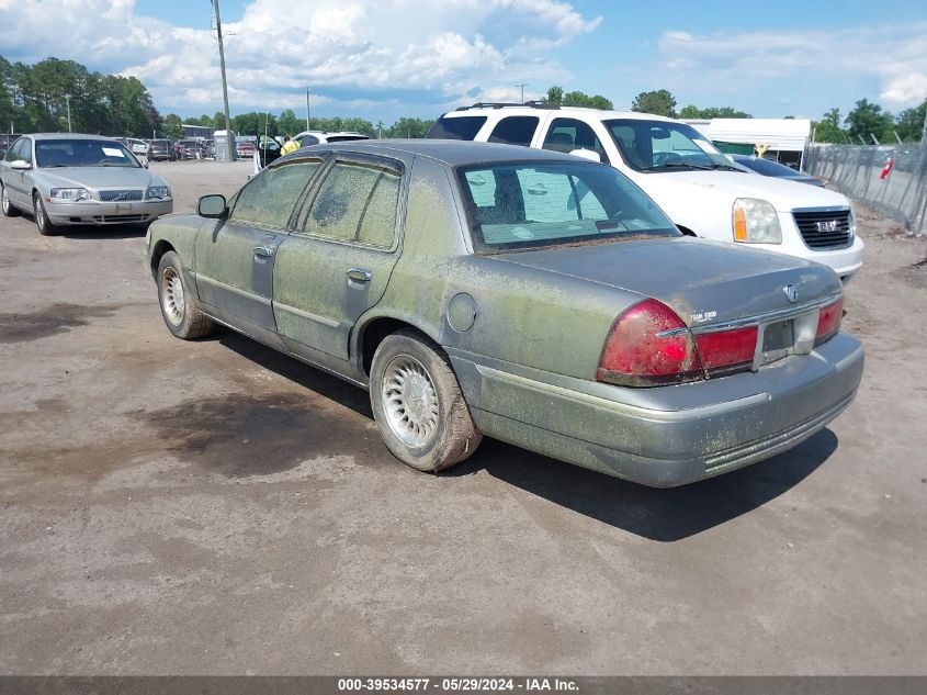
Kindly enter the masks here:
M 601 94 L 547 89 L 541 100 L 554 105 L 588 107 L 612 110 L 611 100 Z M 749 119 L 749 113 L 732 107 L 699 108 L 688 104 L 677 111 L 676 98 L 666 89 L 641 92 L 631 102 L 631 110 L 674 119 Z M 813 121 L 814 139 L 818 143 L 866 144 L 919 142 L 923 136 L 927 99 L 919 107 L 898 114 L 885 111 L 878 103 L 861 99 L 841 117 L 839 109 L 830 109 L 819 121 Z M 792 117 L 792 116 L 784 116 Z M 296 135 L 304 130 L 354 131 L 370 137 L 425 137 L 433 120 L 402 117 L 392 125 L 359 117 L 315 117 L 306 127 L 292 109 L 279 115 L 240 113 L 231 119 L 231 130 L 239 135 Z M 174 113 L 161 116 L 151 94 L 135 77 L 91 72 L 74 60 L 46 58 L 35 65 L 10 63 L 0 56 L 0 131 L 35 133 L 99 133 L 129 137 L 183 137 L 182 124 L 225 130 L 225 115 L 181 120 Z

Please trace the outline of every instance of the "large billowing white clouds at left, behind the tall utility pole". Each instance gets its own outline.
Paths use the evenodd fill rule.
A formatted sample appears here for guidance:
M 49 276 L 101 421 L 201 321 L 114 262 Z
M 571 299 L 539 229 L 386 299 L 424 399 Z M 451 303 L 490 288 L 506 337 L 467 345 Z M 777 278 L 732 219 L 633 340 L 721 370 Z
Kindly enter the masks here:
M 205 4 L 205 3 L 204 3 Z M 103 21 L 101 21 L 101 19 Z M 91 69 L 134 75 L 162 112 L 222 103 L 218 52 L 208 29 L 139 16 L 134 0 L 0 0 L 8 59 L 54 55 Z M 550 53 L 595 31 L 561 0 L 253 0 L 223 24 L 234 110 L 298 108 L 327 98 L 366 103 L 421 90 L 454 101 L 518 81 L 563 76 Z M 326 94 L 330 92 L 330 94 Z M 334 96 L 331 96 L 334 94 Z

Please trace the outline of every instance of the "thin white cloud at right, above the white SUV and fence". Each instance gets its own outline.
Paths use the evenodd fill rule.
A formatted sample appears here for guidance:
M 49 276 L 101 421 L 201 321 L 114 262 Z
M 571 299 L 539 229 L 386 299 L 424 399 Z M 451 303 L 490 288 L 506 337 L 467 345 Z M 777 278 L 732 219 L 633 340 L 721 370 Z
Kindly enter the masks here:
M 883 105 L 896 110 L 927 98 L 925 34 L 927 23 L 708 35 L 668 31 L 660 37 L 663 61 L 655 77 L 668 87 L 711 83 L 716 92 L 732 93 L 761 92 L 789 79 L 798 91 L 812 80 L 839 78 L 861 90 L 874 88 Z

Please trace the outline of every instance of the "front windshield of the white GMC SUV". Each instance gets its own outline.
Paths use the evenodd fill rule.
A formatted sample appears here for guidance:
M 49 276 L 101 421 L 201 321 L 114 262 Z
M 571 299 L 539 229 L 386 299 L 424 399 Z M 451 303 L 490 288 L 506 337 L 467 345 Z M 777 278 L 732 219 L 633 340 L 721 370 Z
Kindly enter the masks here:
M 615 119 L 604 124 L 624 161 L 637 171 L 741 171 L 691 125 L 643 119 Z

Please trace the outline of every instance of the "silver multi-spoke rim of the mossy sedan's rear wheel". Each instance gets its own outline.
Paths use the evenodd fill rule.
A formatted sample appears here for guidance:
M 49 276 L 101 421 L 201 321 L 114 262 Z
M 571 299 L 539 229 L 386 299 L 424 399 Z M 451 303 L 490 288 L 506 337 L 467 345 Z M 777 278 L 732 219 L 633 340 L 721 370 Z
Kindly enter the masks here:
M 407 447 L 427 445 L 438 431 L 438 391 L 428 370 L 409 355 L 389 360 L 383 372 L 381 403 L 389 429 Z

